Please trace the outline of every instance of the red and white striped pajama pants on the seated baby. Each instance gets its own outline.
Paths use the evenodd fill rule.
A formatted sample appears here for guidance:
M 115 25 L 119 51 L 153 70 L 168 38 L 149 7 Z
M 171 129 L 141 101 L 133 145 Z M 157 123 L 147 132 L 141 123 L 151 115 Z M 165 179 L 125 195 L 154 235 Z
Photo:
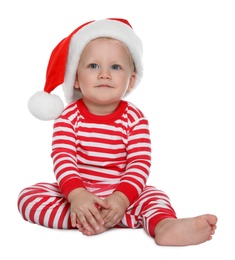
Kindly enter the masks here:
M 89 189 L 88 189 L 89 190 Z M 92 191 L 99 197 L 107 197 Z M 18 197 L 18 209 L 22 217 L 31 223 L 57 229 L 72 229 L 70 203 L 61 194 L 57 183 L 38 183 L 23 189 Z M 164 218 L 176 218 L 168 196 L 153 186 L 146 186 L 138 199 L 126 210 L 116 227 L 142 227 L 152 237 L 156 224 Z

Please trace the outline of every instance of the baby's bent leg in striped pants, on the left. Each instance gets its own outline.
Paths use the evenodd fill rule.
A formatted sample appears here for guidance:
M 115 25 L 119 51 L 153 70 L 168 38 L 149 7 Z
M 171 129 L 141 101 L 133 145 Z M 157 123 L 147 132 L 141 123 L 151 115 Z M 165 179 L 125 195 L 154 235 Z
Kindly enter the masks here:
M 70 204 L 56 183 L 38 183 L 21 191 L 18 209 L 31 223 L 60 229 L 70 229 Z

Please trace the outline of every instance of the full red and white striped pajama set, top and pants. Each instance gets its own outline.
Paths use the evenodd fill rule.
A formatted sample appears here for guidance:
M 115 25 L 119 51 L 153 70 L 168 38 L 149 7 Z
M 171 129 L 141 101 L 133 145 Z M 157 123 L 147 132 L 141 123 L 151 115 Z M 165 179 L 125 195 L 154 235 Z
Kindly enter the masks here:
M 146 185 L 151 166 L 148 121 L 133 104 L 121 101 L 110 115 L 91 114 L 80 99 L 55 120 L 52 153 L 55 183 L 21 191 L 18 209 L 32 223 L 71 229 L 68 194 L 76 188 L 106 198 L 120 191 L 130 206 L 118 227 L 154 236 L 163 218 L 176 218 L 167 195 Z

